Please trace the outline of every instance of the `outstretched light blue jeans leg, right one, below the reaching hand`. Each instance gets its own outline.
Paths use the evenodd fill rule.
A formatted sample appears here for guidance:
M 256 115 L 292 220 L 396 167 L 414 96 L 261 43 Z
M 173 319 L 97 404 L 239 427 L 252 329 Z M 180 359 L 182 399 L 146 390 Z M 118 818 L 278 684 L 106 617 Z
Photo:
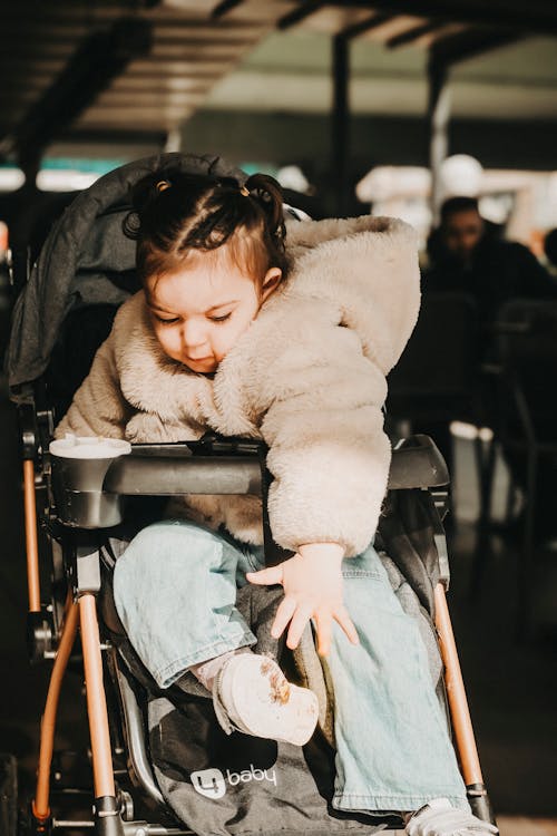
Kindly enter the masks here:
M 343 575 L 360 644 L 351 645 L 335 625 L 326 660 L 335 696 L 333 806 L 413 810 L 443 796 L 468 808 L 418 625 L 373 547 L 345 560 Z

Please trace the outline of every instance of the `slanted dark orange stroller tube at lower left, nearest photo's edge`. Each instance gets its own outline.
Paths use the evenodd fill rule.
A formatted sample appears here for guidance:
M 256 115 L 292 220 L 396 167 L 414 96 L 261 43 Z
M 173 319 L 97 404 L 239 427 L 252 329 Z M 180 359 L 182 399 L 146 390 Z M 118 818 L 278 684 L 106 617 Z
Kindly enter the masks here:
M 63 630 L 56 654 L 50 683 L 48 687 L 45 713 L 40 727 L 40 749 L 39 766 L 37 769 L 37 791 L 32 803 L 33 816 L 39 822 L 46 822 L 50 816 L 49 796 L 50 796 L 50 766 L 52 762 L 52 749 L 56 731 L 56 716 L 58 711 L 58 700 L 60 688 L 68 664 L 68 659 L 74 647 L 77 633 L 79 610 L 77 603 L 71 599 L 68 601 L 66 609 L 66 619 Z

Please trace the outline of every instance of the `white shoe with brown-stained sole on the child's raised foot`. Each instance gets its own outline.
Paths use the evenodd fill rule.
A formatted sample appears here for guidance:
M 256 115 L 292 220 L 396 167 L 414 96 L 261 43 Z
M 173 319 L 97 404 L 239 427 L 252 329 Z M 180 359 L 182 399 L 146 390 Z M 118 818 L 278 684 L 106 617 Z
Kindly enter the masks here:
M 213 702 L 228 733 L 237 729 L 303 746 L 317 723 L 313 691 L 293 686 L 273 659 L 256 653 L 236 653 L 224 663 L 215 679 Z

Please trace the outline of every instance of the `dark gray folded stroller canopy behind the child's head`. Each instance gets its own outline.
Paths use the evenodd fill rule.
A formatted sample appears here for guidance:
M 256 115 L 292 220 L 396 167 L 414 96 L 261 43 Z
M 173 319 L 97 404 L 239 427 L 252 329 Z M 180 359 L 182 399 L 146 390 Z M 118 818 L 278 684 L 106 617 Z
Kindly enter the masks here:
M 158 154 L 100 177 L 79 194 L 52 227 L 14 309 L 6 371 L 12 397 L 17 387 L 47 369 L 60 328 L 71 310 L 90 304 L 120 304 L 135 290 L 135 242 L 121 231 L 129 211 L 129 189 L 162 167 L 189 174 L 246 175 L 222 157 Z

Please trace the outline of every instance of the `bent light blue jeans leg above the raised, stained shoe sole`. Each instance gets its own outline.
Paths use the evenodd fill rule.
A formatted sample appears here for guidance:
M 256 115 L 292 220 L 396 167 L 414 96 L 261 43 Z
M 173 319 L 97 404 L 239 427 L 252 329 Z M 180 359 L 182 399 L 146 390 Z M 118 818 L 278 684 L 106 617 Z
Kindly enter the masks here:
M 217 533 L 169 519 L 140 531 L 118 558 L 116 609 L 160 688 L 193 664 L 255 643 L 235 607 L 236 571 L 244 560 Z

